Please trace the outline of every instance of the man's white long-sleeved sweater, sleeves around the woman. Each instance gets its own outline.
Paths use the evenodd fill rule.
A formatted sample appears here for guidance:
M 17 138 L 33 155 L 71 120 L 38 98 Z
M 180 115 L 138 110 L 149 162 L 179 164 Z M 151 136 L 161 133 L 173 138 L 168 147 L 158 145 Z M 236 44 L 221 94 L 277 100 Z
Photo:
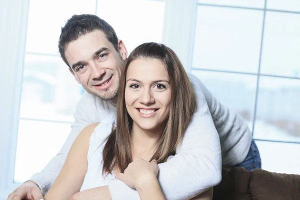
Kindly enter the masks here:
M 167 199 L 186 199 L 219 183 L 221 165 L 240 163 L 246 157 L 252 140 L 246 122 L 235 111 L 222 105 L 197 77 L 189 74 L 189 78 L 196 93 L 197 110 L 181 145 L 176 149 L 176 155 L 158 165 L 157 178 Z M 72 130 L 61 150 L 41 172 L 30 178 L 39 185 L 43 194 L 57 177 L 72 142 L 82 128 L 111 115 L 115 115 L 115 107 L 108 101 L 83 93 L 77 104 Z M 120 180 L 108 181 L 108 187 L 113 200 L 139 199 L 137 191 Z

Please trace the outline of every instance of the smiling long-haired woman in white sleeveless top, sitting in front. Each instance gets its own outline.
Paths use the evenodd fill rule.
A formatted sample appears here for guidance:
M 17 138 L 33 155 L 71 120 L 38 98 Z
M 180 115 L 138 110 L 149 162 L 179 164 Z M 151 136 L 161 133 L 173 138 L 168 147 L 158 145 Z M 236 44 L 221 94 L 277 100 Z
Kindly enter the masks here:
M 115 178 L 136 188 L 141 199 L 164 199 L 157 163 L 175 154 L 196 109 L 191 83 L 175 53 L 151 42 L 130 53 L 119 84 L 116 119 L 106 117 L 79 133 L 46 200 L 68 199 Z M 68 170 L 74 160 L 76 170 Z M 209 199 L 211 190 L 202 195 Z

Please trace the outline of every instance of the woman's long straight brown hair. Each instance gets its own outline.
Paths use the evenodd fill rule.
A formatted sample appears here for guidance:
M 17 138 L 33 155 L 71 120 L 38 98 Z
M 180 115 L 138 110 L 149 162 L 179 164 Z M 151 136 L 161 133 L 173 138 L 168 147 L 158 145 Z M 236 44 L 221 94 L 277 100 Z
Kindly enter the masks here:
M 195 94 L 188 76 L 173 50 L 155 42 L 143 43 L 137 46 L 128 56 L 117 97 L 116 127 L 107 137 L 103 148 L 102 173 L 111 173 L 114 168 L 123 172 L 132 161 L 130 130 L 132 119 L 125 106 L 126 72 L 129 64 L 138 58 L 160 60 L 168 73 L 171 87 L 171 104 L 166 126 L 153 154 L 152 159 L 158 163 L 165 162 L 169 155 L 175 154 L 191 117 L 196 109 Z

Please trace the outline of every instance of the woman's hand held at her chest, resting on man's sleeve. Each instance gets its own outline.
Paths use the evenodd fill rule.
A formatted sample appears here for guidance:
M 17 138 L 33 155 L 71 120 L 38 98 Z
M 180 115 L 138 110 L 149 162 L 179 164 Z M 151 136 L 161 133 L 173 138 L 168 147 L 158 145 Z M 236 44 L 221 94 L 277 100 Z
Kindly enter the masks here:
M 116 174 L 116 178 L 123 181 L 126 185 L 133 189 L 142 187 L 149 180 L 156 179 L 158 173 L 158 165 L 156 160 L 151 162 L 137 158 L 130 162 L 124 173 Z

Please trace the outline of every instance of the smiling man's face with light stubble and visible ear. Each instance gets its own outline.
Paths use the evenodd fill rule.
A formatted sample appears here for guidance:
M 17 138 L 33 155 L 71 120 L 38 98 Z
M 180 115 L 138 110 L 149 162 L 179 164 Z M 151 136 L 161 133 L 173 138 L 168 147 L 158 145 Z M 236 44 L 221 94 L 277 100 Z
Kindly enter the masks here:
M 118 41 L 117 52 L 101 30 L 80 36 L 66 45 L 65 57 L 78 83 L 104 100 L 115 99 L 126 47 Z

